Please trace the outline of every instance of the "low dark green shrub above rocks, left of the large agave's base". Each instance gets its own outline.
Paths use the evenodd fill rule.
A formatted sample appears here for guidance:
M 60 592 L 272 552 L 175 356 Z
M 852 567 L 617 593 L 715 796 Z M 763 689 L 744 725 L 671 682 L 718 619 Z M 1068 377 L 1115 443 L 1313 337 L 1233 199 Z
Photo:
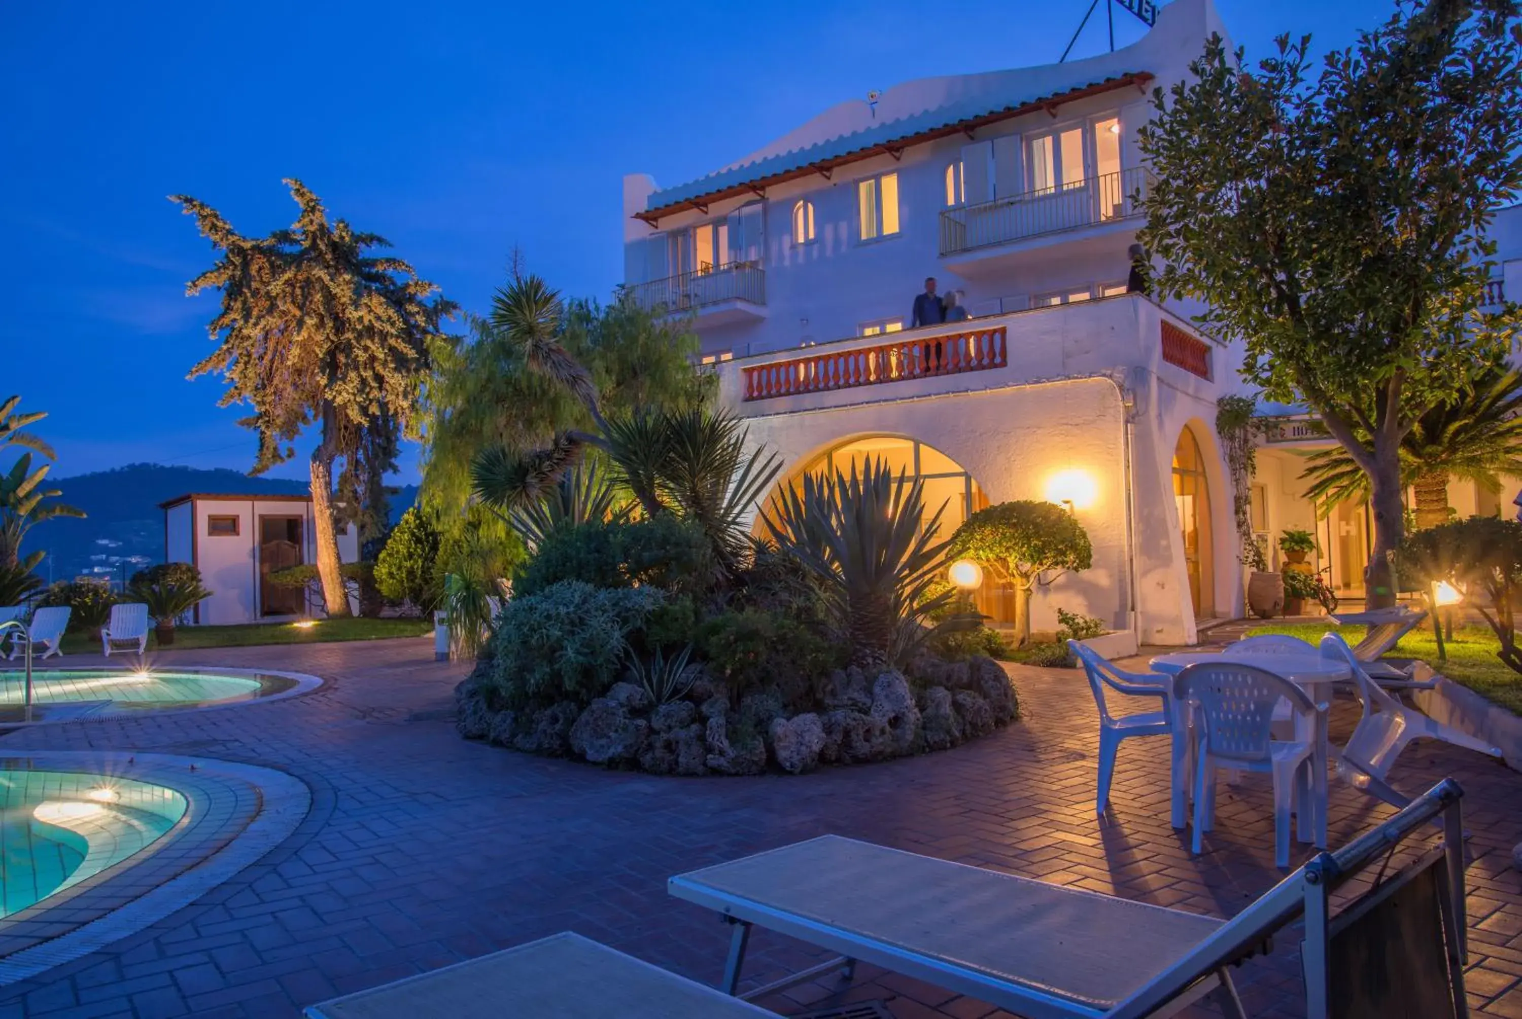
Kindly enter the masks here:
M 755 689 L 775 686 L 788 704 L 813 707 L 819 681 L 846 660 L 845 648 L 819 628 L 770 608 L 718 613 L 699 625 L 694 643 L 737 703 Z

